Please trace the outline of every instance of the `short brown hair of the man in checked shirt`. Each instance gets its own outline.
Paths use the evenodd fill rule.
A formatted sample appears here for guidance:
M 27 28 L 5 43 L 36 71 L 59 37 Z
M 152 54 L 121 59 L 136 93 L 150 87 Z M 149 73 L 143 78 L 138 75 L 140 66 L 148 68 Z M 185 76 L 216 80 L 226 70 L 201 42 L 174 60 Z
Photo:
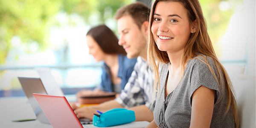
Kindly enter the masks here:
M 115 20 L 119 20 L 125 15 L 131 15 L 134 22 L 141 28 L 145 21 L 148 21 L 150 9 L 142 2 L 136 2 L 123 6 L 116 11 Z

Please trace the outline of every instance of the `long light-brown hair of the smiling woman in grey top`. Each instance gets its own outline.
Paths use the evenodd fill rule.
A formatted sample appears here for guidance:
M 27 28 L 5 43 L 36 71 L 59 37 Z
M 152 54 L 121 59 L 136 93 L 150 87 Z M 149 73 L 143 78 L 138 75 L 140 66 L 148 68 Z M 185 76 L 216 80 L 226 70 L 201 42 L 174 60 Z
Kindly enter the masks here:
M 193 22 L 196 20 L 196 32 L 190 34 L 189 40 L 185 46 L 185 49 L 184 49 L 184 52 L 183 52 L 183 55 L 182 55 L 182 58 L 180 61 L 181 65 L 183 65 L 182 71 L 184 72 L 185 63 L 186 63 L 186 60 L 188 60 L 188 59 L 193 59 L 195 56 L 198 56 L 198 55 L 201 55 L 201 56 L 206 55 L 207 57 L 212 58 L 212 60 L 214 61 L 215 67 L 217 68 L 217 71 L 218 71 L 217 76 L 213 72 L 210 65 L 207 63 L 207 58 L 202 56 L 204 58 L 204 60 L 206 61 L 206 64 L 208 65 L 209 69 L 211 70 L 213 76 L 215 77 L 215 80 L 217 81 L 217 83 L 219 83 L 218 81 L 221 81 L 220 82 L 221 85 L 218 84 L 218 86 L 219 86 L 219 88 L 222 88 L 222 92 L 224 91 L 223 86 L 226 87 L 228 102 L 227 102 L 225 114 L 228 112 L 228 110 L 231 107 L 231 109 L 233 111 L 233 115 L 234 115 L 235 125 L 236 125 L 236 128 L 238 128 L 239 127 L 239 118 L 238 118 L 238 112 L 237 112 L 237 106 L 236 106 L 236 99 L 234 96 L 233 85 L 232 85 L 231 80 L 227 74 L 227 71 L 224 69 L 224 67 L 222 66 L 222 64 L 220 63 L 220 61 L 218 60 L 218 58 L 214 52 L 214 49 L 212 47 L 212 42 L 211 42 L 208 32 L 207 32 L 207 24 L 204 19 L 203 11 L 201 9 L 201 6 L 200 6 L 200 3 L 198 0 L 155 0 L 154 1 L 154 4 L 151 9 L 150 17 L 149 17 L 149 28 L 150 29 L 148 32 L 148 53 L 147 53 L 148 63 L 154 71 L 154 78 L 155 78 L 154 97 L 156 95 L 157 87 L 159 88 L 159 81 L 160 81 L 159 71 L 158 71 L 159 63 L 167 64 L 170 62 L 167 53 L 165 51 L 160 51 L 157 48 L 157 44 L 155 43 L 153 34 L 151 32 L 154 11 L 155 11 L 156 5 L 159 1 L 181 3 L 184 6 L 184 8 L 187 10 L 187 15 L 189 17 L 190 24 L 195 26 L 195 24 Z M 199 53 L 199 54 L 197 54 L 197 53 Z M 157 60 L 157 64 L 155 62 L 156 60 Z M 201 61 L 203 61 L 203 60 L 201 60 Z M 221 77 L 221 74 L 223 75 L 223 79 Z M 224 85 L 223 85 L 223 81 L 224 81 Z M 220 86 L 222 86 L 222 87 L 220 87 Z M 223 93 L 222 93 L 222 95 L 223 95 Z

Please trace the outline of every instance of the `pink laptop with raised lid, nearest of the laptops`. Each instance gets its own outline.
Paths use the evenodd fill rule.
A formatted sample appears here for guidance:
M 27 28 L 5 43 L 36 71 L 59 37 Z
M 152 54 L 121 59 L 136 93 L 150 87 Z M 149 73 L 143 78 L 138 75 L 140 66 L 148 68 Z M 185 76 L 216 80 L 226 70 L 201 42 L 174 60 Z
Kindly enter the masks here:
M 83 128 L 64 96 L 33 95 L 53 128 Z

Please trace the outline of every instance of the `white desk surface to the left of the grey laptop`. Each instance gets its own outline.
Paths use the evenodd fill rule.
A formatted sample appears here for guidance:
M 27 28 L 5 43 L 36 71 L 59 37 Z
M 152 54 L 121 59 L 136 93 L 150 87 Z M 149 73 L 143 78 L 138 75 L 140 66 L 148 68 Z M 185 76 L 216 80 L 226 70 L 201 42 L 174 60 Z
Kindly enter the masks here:
M 0 128 L 52 128 L 52 125 L 38 120 L 12 122 L 15 119 L 36 119 L 26 97 L 0 98 Z

